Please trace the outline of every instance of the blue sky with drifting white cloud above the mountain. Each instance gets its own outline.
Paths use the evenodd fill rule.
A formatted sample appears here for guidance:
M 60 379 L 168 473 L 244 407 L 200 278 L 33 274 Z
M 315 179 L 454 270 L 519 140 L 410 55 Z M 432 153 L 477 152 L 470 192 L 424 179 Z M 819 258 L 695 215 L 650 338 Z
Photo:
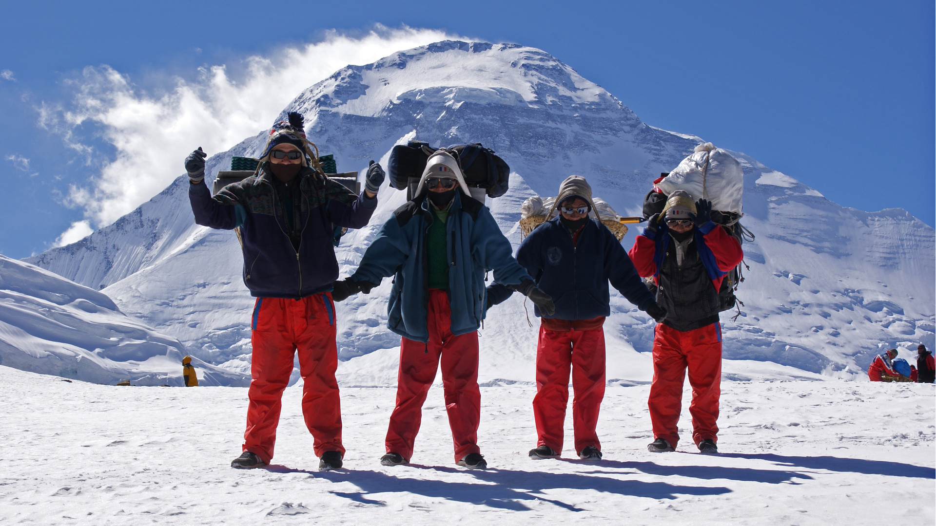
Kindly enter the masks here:
M 42 252 L 76 222 L 71 235 L 157 193 L 165 173 L 182 172 L 165 130 L 197 131 L 186 101 L 227 111 L 250 102 L 251 81 L 278 79 L 273 69 L 301 69 L 311 84 L 344 57 L 371 62 L 436 35 L 548 51 L 647 124 L 748 153 L 844 206 L 903 208 L 933 225 L 933 3 L 767 4 L 8 4 L 0 253 Z M 212 95 L 211 66 L 222 65 L 234 99 Z M 305 87 L 283 84 L 269 108 L 246 111 L 251 133 Z M 164 175 L 142 169 L 160 163 Z M 113 197 L 115 187 L 132 191 Z

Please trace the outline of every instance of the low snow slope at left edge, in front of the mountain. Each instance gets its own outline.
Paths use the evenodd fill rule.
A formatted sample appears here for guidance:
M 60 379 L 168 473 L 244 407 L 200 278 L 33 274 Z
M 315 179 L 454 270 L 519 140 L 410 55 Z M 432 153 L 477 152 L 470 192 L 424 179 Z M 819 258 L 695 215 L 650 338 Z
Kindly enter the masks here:
M 181 386 L 184 347 L 124 315 L 106 295 L 0 256 L 0 364 L 86 382 Z M 206 386 L 250 376 L 194 360 Z

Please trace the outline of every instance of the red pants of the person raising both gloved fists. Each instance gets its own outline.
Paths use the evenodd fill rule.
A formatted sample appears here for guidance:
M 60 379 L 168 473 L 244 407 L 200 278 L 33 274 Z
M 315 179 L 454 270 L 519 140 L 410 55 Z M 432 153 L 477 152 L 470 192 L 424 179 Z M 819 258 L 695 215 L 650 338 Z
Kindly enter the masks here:
M 342 411 L 335 370 L 335 305 L 329 292 L 301 300 L 257 298 L 252 319 L 251 381 L 243 450 L 270 463 L 283 390 L 299 352 L 302 416 L 318 457 L 342 446 Z

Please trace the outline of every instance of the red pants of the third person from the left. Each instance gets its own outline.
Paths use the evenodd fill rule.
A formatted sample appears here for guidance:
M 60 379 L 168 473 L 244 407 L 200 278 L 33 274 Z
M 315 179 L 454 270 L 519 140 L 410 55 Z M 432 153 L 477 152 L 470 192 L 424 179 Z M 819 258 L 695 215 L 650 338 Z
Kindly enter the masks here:
M 563 451 L 565 407 L 572 371 L 572 422 L 576 453 L 585 446 L 601 450 L 595 426 L 605 398 L 605 329 L 549 330 L 539 328 L 536 344 L 536 396 L 533 415 L 536 446 Z

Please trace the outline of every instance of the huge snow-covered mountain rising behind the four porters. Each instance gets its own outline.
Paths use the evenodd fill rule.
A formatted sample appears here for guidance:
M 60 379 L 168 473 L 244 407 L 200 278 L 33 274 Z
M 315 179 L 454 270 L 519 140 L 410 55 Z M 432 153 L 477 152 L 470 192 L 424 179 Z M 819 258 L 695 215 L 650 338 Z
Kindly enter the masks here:
M 512 44 L 444 41 L 347 66 L 302 92 L 280 119 L 290 110 L 305 115 L 309 138 L 335 155 L 340 171 L 364 168 L 369 159 L 386 166 L 390 148 L 409 139 L 492 148 L 512 168 L 511 189 L 488 205 L 515 246 L 526 197 L 553 196 L 575 173 L 622 215 L 639 215 L 651 181 L 702 141 L 644 124 L 547 52 Z M 261 131 L 212 155 L 208 179 L 227 169 L 232 155 L 256 155 L 265 137 Z M 725 358 L 850 377 L 883 347 L 933 344 L 933 228 L 902 210 L 841 207 L 734 154 L 745 174 L 742 224 L 757 238 L 744 245 L 744 306 L 722 316 Z M 124 313 L 178 338 L 194 356 L 240 364 L 235 369 L 244 372 L 253 302 L 241 283 L 240 247 L 232 232 L 194 224 L 186 192 L 180 177 L 115 224 L 27 261 L 103 289 Z M 338 248 L 342 276 L 405 199 L 387 183 L 379 198 L 371 225 L 350 232 Z M 626 247 L 635 234 L 628 233 Z M 344 385 L 395 382 L 399 337 L 385 327 L 388 291 L 385 280 L 339 305 Z M 481 330 L 482 381 L 533 378 L 536 329 L 516 296 L 492 310 Z M 652 327 L 612 295 L 608 378 L 650 381 Z

